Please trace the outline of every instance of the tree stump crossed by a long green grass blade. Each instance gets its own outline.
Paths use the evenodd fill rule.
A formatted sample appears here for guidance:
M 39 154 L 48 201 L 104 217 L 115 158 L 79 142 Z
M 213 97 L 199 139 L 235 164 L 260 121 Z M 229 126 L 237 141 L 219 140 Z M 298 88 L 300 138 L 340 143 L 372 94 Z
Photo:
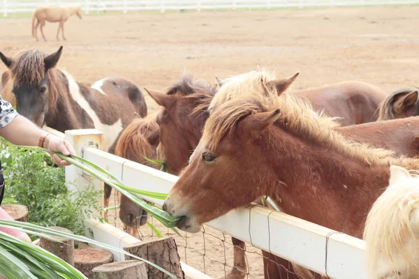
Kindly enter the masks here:
M 49 227 L 50 229 L 55 229 L 59 232 L 67 232 L 69 234 L 73 234 L 70 229 L 66 229 L 64 227 Z M 47 251 L 52 252 L 52 254 L 64 259 L 64 261 L 68 262 L 74 266 L 74 241 L 73 239 L 66 239 L 64 237 L 59 236 L 52 236 L 54 239 L 57 239 L 61 242 L 52 241 L 49 239 L 40 238 L 39 246 L 44 248 Z

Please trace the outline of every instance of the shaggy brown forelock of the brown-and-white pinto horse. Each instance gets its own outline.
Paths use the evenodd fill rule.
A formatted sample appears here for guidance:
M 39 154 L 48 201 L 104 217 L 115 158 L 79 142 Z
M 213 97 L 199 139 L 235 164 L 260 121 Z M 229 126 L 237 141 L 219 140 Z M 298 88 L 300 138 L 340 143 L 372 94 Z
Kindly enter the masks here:
M 38 86 L 45 78 L 45 57 L 46 54 L 38 50 L 28 50 L 19 54 L 10 66 L 15 84 Z

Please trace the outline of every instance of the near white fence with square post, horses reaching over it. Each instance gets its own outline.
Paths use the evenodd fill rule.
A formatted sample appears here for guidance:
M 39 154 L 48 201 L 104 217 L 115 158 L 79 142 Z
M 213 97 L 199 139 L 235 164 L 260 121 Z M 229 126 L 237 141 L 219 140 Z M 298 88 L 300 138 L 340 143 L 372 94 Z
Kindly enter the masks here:
M 107 169 L 127 186 L 168 193 L 178 179 L 177 176 L 101 151 L 103 133 L 98 130 L 69 130 L 66 131 L 65 137 L 80 156 Z M 71 181 L 76 181 L 78 187 L 82 187 L 87 181 L 91 181 L 90 179 L 87 174 L 80 172 L 80 169 L 74 166 L 66 167 L 69 189 L 74 188 L 68 184 Z M 99 183 L 96 185 L 101 187 Z M 157 206 L 163 203 L 161 200 L 147 197 L 145 199 Z M 94 228 L 95 239 L 98 241 L 121 248 L 127 239 L 135 241 L 131 236 L 111 228 L 110 225 L 95 223 L 94 220 L 87 220 L 87 224 Z M 285 213 L 270 211 L 262 206 L 248 206 L 230 211 L 206 225 L 323 275 L 326 274 L 327 268 L 329 278 L 367 278 L 364 264 L 365 241 Z M 115 233 L 117 231 L 121 234 Z M 191 266 L 183 266 L 185 273 L 187 271 L 191 278 L 205 278 L 203 273 Z

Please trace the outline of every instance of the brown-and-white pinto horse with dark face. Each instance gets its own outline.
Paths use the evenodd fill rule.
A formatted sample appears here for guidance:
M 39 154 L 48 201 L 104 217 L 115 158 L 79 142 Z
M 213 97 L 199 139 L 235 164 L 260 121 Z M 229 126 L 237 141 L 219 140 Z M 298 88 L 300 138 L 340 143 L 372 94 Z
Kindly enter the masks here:
M 55 68 L 63 47 L 47 55 L 38 50 L 0 58 L 10 70 L 17 112 L 42 127 L 66 130 L 96 128 L 103 132 L 103 150 L 114 153 L 119 134 L 135 114 L 147 116 L 145 98 L 135 84 L 121 77 L 106 77 L 92 86 L 75 82 Z M 105 185 L 108 206 L 112 188 Z

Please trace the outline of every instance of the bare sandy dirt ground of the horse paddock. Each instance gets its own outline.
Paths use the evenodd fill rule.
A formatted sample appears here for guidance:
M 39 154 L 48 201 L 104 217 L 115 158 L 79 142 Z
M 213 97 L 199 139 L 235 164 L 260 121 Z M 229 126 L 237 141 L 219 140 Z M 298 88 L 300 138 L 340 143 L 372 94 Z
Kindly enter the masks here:
M 0 51 L 11 56 L 27 48 L 50 53 L 62 44 L 59 66 L 78 81 L 119 75 L 162 92 L 183 70 L 214 82 L 215 76 L 259 66 L 276 70 L 279 77 L 300 72 L 293 89 L 363 80 L 390 93 L 418 84 L 418 13 L 419 6 L 388 6 L 85 16 L 66 23 L 66 42 L 57 42 L 58 25 L 47 23 L 46 43 L 31 38 L 29 18 L 6 19 L 0 20 Z M 158 109 L 146 100 L 150 112 Z M 179 248 L 182 260 L 203 271 L 205 258 L 205 271 L 223 276 L 224 266 L 217 262 L 226 255 L 231 264 L 231 246 L 226 244 L 224 253 L 222 241 L 205 235 L 205 243 L 203 234 L 188 235 L 186 258 Z M 179 246 L 184 243 L 178 238 Z M 260 256 L 248 253 L 248 260 L 250 276 L 263 278 Z

